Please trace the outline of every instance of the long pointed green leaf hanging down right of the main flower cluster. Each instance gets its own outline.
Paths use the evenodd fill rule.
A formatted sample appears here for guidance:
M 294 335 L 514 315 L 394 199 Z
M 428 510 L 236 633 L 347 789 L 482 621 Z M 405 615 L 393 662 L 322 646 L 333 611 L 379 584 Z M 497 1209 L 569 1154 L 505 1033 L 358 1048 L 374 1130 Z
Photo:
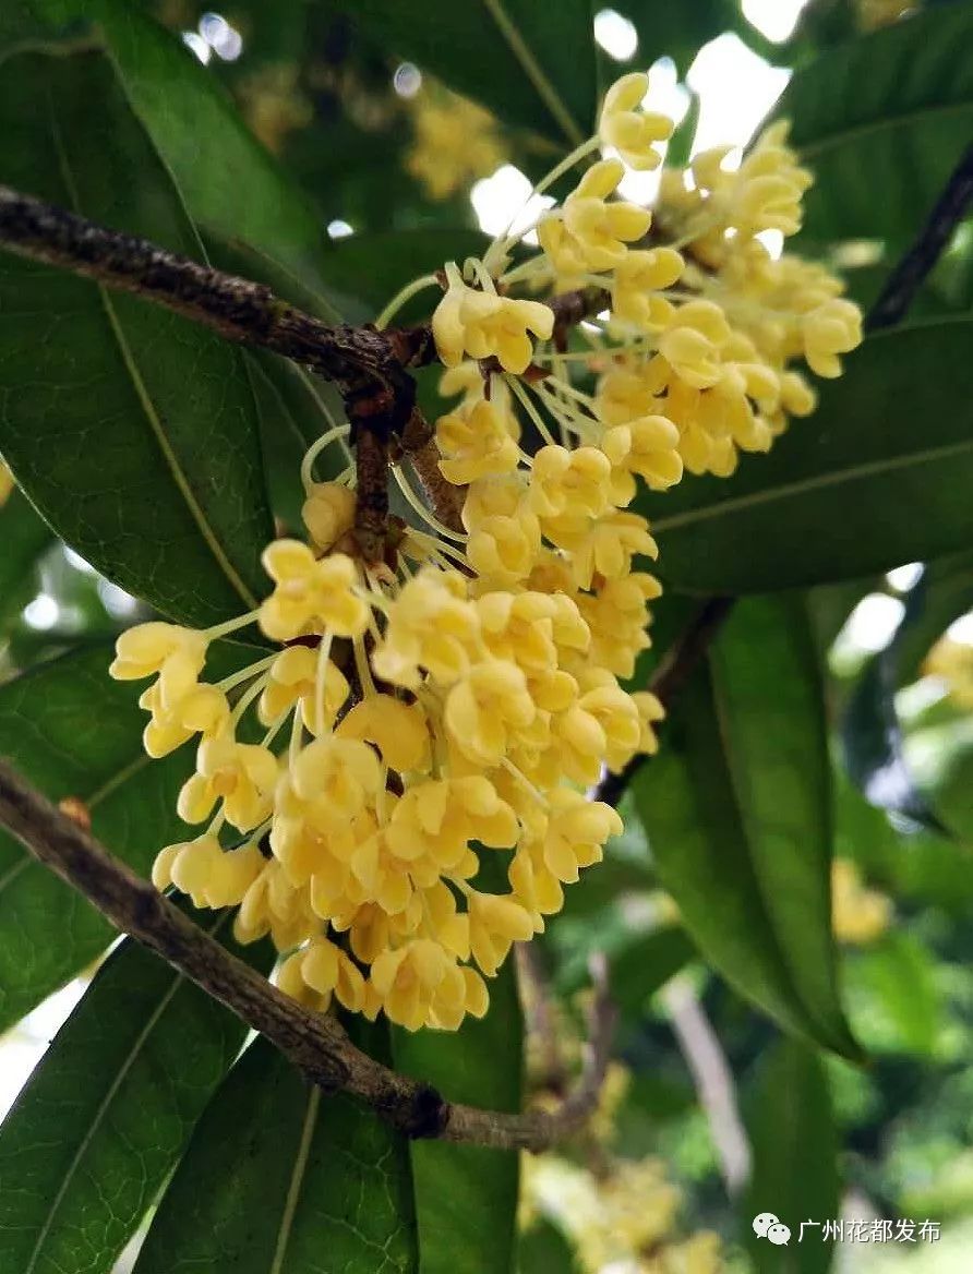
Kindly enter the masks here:
M 855 1055 L 835 986 L 821 689 L 799 600 L 737 604 L 634 795 L 703 957 L 790 1032 Z

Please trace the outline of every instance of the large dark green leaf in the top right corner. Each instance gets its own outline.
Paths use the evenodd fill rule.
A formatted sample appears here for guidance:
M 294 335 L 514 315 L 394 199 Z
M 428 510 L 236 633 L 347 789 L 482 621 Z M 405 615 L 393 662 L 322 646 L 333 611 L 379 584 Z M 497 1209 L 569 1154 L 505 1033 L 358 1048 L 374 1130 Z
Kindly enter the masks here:
M 916 14 L 797 70 L 776 115 L 815 173 L 810 238 L 916 234 L 973 135 L 973 4 Z

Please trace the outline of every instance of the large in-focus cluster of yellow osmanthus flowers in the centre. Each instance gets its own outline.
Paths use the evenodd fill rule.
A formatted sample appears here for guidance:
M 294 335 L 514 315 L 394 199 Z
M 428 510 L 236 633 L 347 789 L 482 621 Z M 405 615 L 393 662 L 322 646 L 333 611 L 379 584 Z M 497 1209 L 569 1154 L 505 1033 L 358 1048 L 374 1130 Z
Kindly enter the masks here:
M 516 238 L 501 237 L 378 321 L 444 279 L 432 327 L 456 405 L 436 437 L 461 527 L 396 464 L 415 525 L 366 566 L 353 468 L 312 476 L 340 426 L 304 459 L 307 543 L 266 548 L 262 605 L 118 640 L 113 675 L 154 678 L 149 754 L 197 739 L 178 813 L 201 831 L 162 850 L 157 885 L 237 907 L 237 936 L 269 934 L 280 986 L 308 1004 L 410 1029 L 487 1012 L 511 945 L 621 829 L 585 789 L 657 747 L 661 705 L 620 684 L 660 594 L 629 507 L 639 479 L 665 490 L 684 469 L 730 473 L 737 450 L 765 450 L 813 408 L 790 363 L 838 375 L 860 339 L 838 282 L 759 238 L 797 228 L 810 181 L 782 127 L 735 171 L 711 152 L 692 181 L 664 173 L 655 214 L 618 199 L 624 166 L 658 166 L 671 131 L 641 110 L 646 89 L 624 76 L 597 135 L 537 187 L 602 148 L 621 157 L 596 159 L 544 214 L 540 252 L 508 269 Z M 571 348 L 557 303 L 537 298 L 565 278 L 599 298 Z M 274 648 L 206 682 L 210 645 L 253 626 Z

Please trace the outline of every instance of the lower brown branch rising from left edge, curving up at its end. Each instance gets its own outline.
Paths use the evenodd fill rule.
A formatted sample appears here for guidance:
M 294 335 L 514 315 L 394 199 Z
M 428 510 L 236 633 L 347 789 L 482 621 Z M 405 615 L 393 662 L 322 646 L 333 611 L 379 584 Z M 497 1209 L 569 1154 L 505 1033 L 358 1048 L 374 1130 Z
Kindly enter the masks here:
M 118 862 L 0 761 L 0 826 L 120 930 L 266 1036 L 312 1083 L 348 1092 L 411 1138 L 474 1142 L 540 1150 L 569 1135 L 597 1101 L 610 1049 L 614 1013 L 604 970 L 596 984 L 588 1061 L 574 1091 L 545 1113 L 512 1115 L 448 1102 L 429 1084 L 400 1075 L 357 1049 L 337 1020 L 312 1013 L 279 991 L 194 925 L 146 880 Z

